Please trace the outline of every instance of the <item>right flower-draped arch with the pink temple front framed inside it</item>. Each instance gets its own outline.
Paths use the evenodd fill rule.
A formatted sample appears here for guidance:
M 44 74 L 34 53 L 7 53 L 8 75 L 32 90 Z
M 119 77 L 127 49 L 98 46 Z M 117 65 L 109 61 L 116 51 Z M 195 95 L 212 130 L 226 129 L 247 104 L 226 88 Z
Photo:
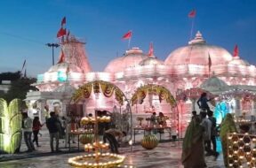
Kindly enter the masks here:
M 156 112 L 156 116 L 160 116 L 163 113 L 166 126 L 171 126 L 172 133 L 177 134 L 180 126 L 177 120 L 179 112 L 176 101 L 167 88 L 152 84 L 141 86 L 132 95 L 131 105 L 136 108 L 132 113 L 132 123 L 136 123 L 135 126 L 150 127 L 152 114 Z

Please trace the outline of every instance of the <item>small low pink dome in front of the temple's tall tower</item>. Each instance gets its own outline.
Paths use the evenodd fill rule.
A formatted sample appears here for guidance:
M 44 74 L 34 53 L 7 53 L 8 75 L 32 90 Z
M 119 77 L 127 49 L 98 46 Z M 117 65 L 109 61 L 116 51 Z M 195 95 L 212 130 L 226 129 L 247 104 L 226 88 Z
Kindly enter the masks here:
M 56 73 L 56 72 L 66 73 L 68 67 L 69 67 L 69 72 L 83 73 L 83 71 L 79 67 L 77 67 L 76 65 L 69 64 L 69 63 L 66 63 L 66 62 L 62 62 L 60 64 L 52 65 L 52 67 L 48 70 L 47 73 Z

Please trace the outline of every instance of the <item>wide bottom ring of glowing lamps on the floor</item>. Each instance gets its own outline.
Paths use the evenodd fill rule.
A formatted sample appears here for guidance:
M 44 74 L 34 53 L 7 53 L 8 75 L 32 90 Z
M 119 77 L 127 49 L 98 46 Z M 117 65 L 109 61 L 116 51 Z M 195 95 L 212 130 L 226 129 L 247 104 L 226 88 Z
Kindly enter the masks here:
M 96 162 L 95 157 L 98 155 L 99 157 L 108 159 L 115 159 L 115 161 L 107 161 L 107 162 Z M 110 154 L 110 153 L 98 153 L 98 154 L 88 154 L 79 157 L 72 157 L 68 159 L 68 164 L 74 167 L 86 167 L 86 168 L 100 168 L 100 167 L 116 167 L 124 162 L 124 156 Z

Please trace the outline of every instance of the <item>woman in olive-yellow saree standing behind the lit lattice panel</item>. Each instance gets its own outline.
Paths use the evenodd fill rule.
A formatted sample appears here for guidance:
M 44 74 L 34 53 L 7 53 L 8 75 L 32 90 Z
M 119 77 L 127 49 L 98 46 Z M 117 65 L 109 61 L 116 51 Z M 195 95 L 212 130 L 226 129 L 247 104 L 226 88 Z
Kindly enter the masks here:
M 233 116 L 228 113 L 222 123 L 220 124 L 220 140 L 222 146 L 222 153 L 224 164 L 228 167 L 228 134 L 229 133 L 237 133 L 236 124 L 233 119 Z

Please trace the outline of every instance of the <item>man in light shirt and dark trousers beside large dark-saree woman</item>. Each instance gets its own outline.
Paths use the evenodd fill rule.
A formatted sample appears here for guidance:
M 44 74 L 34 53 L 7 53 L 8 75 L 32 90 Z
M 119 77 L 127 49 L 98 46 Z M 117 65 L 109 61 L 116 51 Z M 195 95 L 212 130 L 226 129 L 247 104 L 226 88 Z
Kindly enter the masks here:
M 207 152 L 207 156 L 214 156 L 215 159 L 219 156 L 219 152 L 216 152 L 211 149 L 211 130 L 212 130 L 212 121 L 206 118 L 206 112 L 200 113 L 202 122 L 201 126 L 204 127 L 204 148 Z

